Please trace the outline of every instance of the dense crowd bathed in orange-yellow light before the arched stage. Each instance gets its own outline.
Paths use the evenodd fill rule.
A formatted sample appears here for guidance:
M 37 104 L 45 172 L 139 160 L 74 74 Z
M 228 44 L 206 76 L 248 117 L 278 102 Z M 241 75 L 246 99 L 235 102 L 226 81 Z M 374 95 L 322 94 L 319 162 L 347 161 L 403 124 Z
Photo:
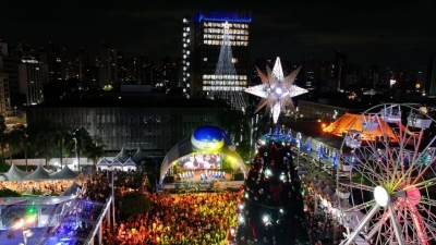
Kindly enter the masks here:
M 120 221 L 105 244 L 225 245 L 237 225 L 239 194 L 146 194 L 153 210 Z

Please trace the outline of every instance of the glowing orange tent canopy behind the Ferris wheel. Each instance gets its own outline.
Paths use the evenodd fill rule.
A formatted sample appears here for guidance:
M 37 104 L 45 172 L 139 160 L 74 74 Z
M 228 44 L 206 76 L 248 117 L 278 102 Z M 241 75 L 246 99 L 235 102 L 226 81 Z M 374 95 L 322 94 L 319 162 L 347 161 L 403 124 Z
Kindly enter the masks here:
M 334 134 L 337 136 L 342 136 L 343 133 L 347 133 L 348 131 L 359 131 L 363 132 L 362 127 L 362 122 L 370 121 L 370 119 L 375 119 L 375 122 L 377 122 L 377 128 L 371 131 L 371 136 L 366 135 L 367 131 L 364 131 L 362 133 L 361 137 L 362 138 L 375 138 L 375 137 L 389 137 L 392 143 L 398 142 L 396 134 L 393 133 L 392 128 L 388 125 L 388 123 L 385 123 L 380 117 L 374 117 L 374 115 L 362 115 L 362 114 L 352 114 L 352 113 L 346 113 L 342 115 L 340 119 L 336 120 L 334 123 L 330 125 L 324 127 L 324 132 L 327 132 L 329 134 Z M 401 125 L 401 128 L 405 132 L 407 128 Z

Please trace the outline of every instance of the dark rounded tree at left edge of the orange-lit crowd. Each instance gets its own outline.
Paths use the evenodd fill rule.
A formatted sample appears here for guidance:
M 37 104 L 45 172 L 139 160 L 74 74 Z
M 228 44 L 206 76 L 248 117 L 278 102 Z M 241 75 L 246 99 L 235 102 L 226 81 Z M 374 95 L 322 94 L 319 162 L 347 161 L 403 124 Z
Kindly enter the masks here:
M 140 192 L 128 193 L 122 198 L 121 215 L 123 218 L 132 218 L 136 215 L 148 212 L 153 209 L 150 200 Z

